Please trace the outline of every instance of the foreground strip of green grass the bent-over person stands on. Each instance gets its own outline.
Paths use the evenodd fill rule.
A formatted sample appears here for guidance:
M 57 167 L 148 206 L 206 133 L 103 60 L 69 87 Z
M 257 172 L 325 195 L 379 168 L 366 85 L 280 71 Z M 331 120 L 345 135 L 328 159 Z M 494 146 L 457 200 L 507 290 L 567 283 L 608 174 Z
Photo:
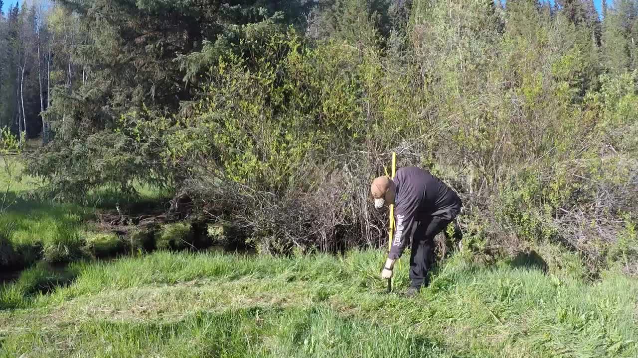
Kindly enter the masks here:
M 382 252 L 156 252 L 36 266 L 0 293 L 3 357 L 637 357 L 638 282 L 474 264 L 406 298 Z M 567 257 L 574 261 L 573 257 Z M 548 261 L 549 262 L 549 261 Z

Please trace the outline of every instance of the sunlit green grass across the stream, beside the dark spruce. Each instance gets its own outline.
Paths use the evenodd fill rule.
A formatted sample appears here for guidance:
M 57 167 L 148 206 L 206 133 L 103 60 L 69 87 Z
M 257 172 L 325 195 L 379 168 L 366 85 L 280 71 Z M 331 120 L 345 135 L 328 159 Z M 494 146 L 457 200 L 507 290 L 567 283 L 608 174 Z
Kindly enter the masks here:
M 43 182 L 24 173 L 19 156 L 0 158 L 0 162 L 4 159 L 10 173 L 0 169 L 0 195 L 9 189 L 6 210 L 0 213 L 0 268 L 27 267 L 41 257 L 50 261 L 78 259 L 83 255 L 80 248 L 85 245 L 85 233 L 91 229 L 87 222 L 98 210 L 129 210 L 133 206 L 151 210 L 170 196 L 138 184 L 135 197 L 101 189 L 87 192 L 82 203 L 61 202 L 36 195 Z

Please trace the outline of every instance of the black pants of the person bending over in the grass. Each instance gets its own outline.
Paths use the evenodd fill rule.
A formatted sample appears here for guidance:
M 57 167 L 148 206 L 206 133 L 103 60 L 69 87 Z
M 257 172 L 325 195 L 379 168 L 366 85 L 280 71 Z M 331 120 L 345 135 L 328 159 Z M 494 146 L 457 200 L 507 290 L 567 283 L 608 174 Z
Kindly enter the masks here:
M 421 287 L 429 284 L 429 273 L 434 263 L 434 236 L 445 230 L 452 220 L 429 217 L 419 222 L 412 238 L 410 254 L 410 280 L 412 286 Z

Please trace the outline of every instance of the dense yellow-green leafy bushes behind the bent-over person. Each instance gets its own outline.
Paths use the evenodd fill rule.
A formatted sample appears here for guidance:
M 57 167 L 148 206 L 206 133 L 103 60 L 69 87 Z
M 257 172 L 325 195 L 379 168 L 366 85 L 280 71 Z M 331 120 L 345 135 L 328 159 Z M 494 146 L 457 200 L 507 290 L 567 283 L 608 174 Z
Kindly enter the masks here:
M 75 139 L 84 150 L 45 148 L 32 172 L 67 191 L 163 183 L 263 251 L 336 251 L 385 242 L 368 184 L 395 151 L 459 192 L 464 247 L 551 240 L 592 266 L 635 262 L 637 73 L 599 54 L 623 45 L 593 17 L 528 1 L 414 1 L 409 13 L 382 41 L 368 36 L 372 11 L 317 41 L 251 28 L 179 112 L 125 111 Z

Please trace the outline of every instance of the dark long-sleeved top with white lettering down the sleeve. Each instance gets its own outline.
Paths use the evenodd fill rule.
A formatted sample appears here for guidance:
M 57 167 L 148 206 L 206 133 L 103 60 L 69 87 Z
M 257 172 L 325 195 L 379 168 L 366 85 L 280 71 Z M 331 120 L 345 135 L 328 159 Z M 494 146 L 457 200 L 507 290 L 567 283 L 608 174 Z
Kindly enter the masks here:
M 454 190 L 428 171 L 407 167 L 394 176 L 395 231 L 390 247 L 390 259 L 398 259 L 407 243 L 412 241 L 419 222 L 428 217 L 453 220 L 461 211 L 461 199 Z

